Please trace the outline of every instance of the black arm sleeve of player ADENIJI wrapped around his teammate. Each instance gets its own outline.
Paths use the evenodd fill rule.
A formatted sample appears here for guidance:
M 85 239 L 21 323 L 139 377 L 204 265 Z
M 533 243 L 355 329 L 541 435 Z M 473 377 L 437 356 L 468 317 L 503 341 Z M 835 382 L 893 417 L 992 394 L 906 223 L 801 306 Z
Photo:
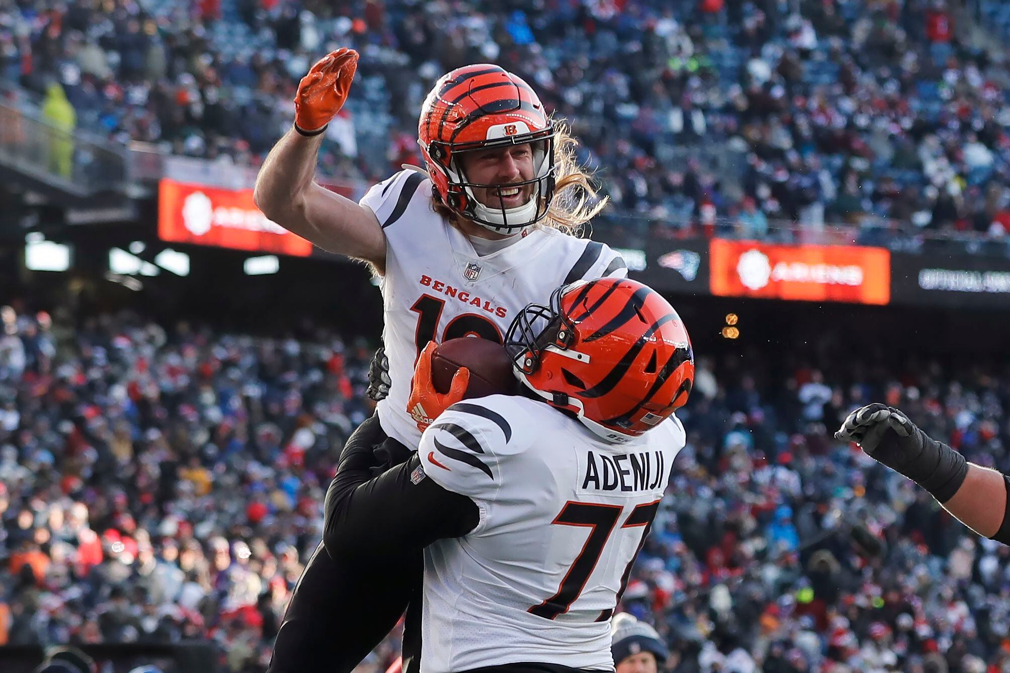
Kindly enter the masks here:
M 480 521 L 477 504 L 466 495 L 427 477 L 411 481 L 420 466 L 416 453 L 373 479 L 374 465 L 371 447 L 348 444 L 340 456 L 325 503 L 323 545 L 332 559 L 392 561 L 436 540 L 467 535 Z

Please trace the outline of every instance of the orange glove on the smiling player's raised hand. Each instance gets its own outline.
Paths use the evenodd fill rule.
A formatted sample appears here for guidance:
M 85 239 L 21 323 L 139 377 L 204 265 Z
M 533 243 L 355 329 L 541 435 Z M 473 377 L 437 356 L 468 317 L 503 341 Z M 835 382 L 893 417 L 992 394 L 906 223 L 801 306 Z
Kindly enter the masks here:
M 358 52 L 341 47 L 316 62 L 298 83 L 295 94 L 295 126 L 321 131 L 347 100 L 350 81 L 358 70 Z

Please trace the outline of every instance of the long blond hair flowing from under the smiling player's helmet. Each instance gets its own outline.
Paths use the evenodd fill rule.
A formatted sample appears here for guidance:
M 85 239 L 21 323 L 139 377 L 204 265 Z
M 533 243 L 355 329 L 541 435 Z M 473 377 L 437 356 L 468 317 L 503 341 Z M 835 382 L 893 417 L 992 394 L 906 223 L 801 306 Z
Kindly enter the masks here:
M 547 214 L 537 222 L 573 235 L 580 235 L 589 220 L 599 214 L 609 196 L 596 200 L 596 188 L 586 169 L 579 165 L 575 151 L 579 140 L 572 136 L 571 128 L 564 120 L 554 121 L 554 198 L 547 208 Z M 432 192 L 431 208 L 457 226 L 463 216 L 449 209 Z

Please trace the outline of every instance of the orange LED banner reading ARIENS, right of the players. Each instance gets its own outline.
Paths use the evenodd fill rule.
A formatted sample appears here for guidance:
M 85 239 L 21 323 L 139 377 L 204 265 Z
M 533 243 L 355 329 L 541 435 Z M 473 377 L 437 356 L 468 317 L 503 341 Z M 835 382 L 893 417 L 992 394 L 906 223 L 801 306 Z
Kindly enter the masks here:
M 891 253 L 862 246 L 709 243 L 709 285 L 722 297 L 886 304 Z

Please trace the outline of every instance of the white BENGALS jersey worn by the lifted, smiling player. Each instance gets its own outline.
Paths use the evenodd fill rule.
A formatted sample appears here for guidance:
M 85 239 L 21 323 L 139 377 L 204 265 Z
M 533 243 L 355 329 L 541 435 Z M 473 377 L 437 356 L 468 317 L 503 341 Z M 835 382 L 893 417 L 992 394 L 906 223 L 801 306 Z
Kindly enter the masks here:
M 429 341 L 476 334 L 502 343 L 526 304 L 546 304 L 564 283 L 627 275 L 621 256 L 605 246 L 535 226 L 491 255 L 479 256 L 470 238 L 431 208 L 431 181 L 401 171 L 361 200 L 386 234 L 382 278 L 389 358 L 389 396 L 379 402 L 386 434 L 414 448 L 421 434 L 407 412 L 417 356 Z

